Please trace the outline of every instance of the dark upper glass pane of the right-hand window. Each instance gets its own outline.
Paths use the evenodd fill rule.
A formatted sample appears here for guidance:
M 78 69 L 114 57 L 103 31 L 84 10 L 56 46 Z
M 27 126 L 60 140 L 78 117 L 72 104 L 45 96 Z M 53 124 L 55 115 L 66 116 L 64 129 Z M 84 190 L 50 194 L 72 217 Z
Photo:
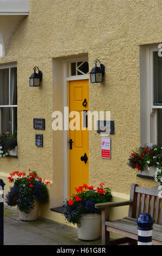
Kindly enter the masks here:
M 158 52 L 153 53 L 153 86 L 154 102 L 162 102 L 162 58 Z

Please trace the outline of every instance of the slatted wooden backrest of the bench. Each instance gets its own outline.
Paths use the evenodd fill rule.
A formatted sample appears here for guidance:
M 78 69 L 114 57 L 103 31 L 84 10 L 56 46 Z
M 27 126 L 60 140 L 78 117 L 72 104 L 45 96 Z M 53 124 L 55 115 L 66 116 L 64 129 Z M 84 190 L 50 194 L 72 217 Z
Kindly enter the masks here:
M 158 197 L 158 193 L 158 186 L 144 188 L 132 184 L 130 200 L 133 200 L 134 204 L 129 206 L 128 216 L 138 218 L 140 214 L 149 213 L 155 223 L 162 224 L 162 199 Z

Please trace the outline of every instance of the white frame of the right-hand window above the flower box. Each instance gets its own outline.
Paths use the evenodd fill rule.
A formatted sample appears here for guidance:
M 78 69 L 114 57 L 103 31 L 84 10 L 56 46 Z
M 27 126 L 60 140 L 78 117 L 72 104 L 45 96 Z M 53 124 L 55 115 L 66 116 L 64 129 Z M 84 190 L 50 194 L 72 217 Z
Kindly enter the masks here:
M 153 52 L 158 45 L 140 47 L 141 147 L 157 144 L 157 109 L 153 105 Z

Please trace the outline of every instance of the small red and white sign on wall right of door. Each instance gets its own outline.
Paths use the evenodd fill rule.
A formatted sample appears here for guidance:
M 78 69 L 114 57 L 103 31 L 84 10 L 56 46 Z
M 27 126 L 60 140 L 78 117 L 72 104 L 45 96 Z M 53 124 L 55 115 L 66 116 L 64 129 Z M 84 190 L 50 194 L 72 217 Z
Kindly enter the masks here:
M 111 138 L 101 137 L 101 157 L 105 159 L 110 159 L 111 152 Z

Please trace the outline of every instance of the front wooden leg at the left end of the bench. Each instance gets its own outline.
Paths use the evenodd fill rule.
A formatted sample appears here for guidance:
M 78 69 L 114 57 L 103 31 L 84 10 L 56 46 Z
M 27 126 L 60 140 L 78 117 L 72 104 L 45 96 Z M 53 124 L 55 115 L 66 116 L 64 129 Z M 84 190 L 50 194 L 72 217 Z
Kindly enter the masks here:
M 106 230 L 105 221 L 109 221 L 109 209 L 102 209 L 102 245 L 110 245 L 110 232 Z

